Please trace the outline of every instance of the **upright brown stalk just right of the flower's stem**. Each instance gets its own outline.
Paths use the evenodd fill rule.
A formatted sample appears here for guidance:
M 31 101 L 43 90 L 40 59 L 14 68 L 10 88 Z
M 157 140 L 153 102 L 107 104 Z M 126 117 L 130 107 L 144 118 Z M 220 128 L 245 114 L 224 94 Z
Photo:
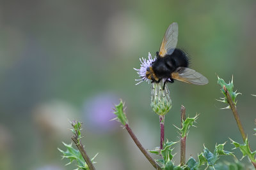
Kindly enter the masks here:
M 186 108 L 183 105 L 181 105 L 180 108 L 180 116 L 182 128 L 182 122 L 186 120 Z M 186 164 L 186 138 L 187 136 L 180 138 L 180 166 L 184 166 Z

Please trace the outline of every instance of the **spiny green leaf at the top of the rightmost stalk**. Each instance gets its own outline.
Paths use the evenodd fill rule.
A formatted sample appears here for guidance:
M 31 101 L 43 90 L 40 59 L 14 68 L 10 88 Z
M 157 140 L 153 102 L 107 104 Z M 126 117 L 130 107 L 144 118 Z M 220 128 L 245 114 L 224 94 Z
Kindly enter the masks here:
M 236 103 L 237 103 L 236 97 L 237 97 L 238 94 L 241 94 L 241 93 L 233 92 L 233 90 L 234 90 L 233 77 L 232 77 L 231 82 L 227 84 L 222 78 L 220 78 L 218 76 L 218 81 L 217 82 L 221 86 L 221 92 L 224 95 L 224 97 L 221 98 L 221 100 L 217 100 L 217 101 L 220 101 L 220 102 L 223 102 L 223 103 L 228 103 L 227 95 L 225 93 L 225 90 L 223 89 L 223 87 L 225 86 L 228 90 L 228 93 L 230 94 L 230 97 L 231 97 L 232 101 L 236 105 Z M 227 106 L 227 108 L 230 108 L 230 106 Z

